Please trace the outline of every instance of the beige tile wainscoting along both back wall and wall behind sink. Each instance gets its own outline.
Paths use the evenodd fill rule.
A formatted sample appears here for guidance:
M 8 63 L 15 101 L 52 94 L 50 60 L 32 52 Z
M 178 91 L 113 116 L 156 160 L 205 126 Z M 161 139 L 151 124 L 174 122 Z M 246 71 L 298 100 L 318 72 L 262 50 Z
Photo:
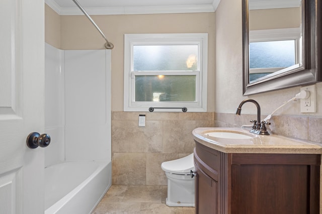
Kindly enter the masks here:
M 145 127 L 138 126 L 139 114 L 146 115 Z M 240 127 L 252 119 L 255 114 L 112 112 L 113 184 L 167 185 L 160 165 L 193 152 L 193 129 Z M 322 142 L 321 117 L 273 116 L 271 123 L 275 134 Z

